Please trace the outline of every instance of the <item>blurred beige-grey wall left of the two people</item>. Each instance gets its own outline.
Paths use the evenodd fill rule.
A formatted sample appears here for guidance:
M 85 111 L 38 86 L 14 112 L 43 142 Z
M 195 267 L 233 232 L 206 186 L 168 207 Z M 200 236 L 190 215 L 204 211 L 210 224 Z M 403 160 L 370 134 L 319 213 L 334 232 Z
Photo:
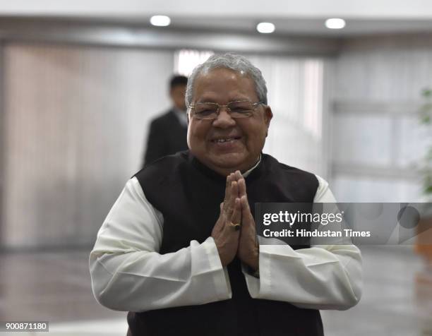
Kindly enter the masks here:
M 167 51 L 6 44 L 4 246 L 92 244 L 172 68 Z

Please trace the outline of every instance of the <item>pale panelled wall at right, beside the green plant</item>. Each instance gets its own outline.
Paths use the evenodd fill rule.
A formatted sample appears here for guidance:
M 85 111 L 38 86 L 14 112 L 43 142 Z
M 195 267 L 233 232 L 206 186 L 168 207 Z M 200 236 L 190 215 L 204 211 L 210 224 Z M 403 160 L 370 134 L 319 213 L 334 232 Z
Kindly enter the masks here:
M 338 200 L 421 200 L 430 143 L 421 90 L 432 85 L 431 35 L 352 38 L 336 60 L 332 176 Z

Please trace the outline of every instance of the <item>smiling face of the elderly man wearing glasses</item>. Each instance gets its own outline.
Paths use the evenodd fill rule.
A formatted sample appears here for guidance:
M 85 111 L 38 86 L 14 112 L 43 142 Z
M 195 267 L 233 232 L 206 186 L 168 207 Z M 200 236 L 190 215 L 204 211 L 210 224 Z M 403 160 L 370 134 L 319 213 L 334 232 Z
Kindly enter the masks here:
M 228 104 L 236 100 L 258 102 L 253 80 L 227 68 L 217 68 L 196 78 L 192 103 Z M 263 104 L 248 118 L 233 119 L 225 107 L 214 120 L 190 118 L 189 149 L 219 174 L 245 171 L 256 164 L 271 119 L 270 107 Z M 221 139 L 227 141 L 218 141 Z

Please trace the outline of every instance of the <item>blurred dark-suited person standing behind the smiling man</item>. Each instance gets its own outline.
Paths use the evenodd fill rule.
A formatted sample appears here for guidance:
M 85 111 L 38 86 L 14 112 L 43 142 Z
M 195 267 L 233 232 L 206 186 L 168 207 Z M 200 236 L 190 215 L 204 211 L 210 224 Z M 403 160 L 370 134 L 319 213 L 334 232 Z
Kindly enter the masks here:
M 187 83 L 188 78 L 185 76 L 173 76 L 169 81 L 172 108 L 162 116 L 153 119 L 150 124 L 143 167 L 160 157 L 188 149 L 186 143 L 188 119 L 184 101 Z

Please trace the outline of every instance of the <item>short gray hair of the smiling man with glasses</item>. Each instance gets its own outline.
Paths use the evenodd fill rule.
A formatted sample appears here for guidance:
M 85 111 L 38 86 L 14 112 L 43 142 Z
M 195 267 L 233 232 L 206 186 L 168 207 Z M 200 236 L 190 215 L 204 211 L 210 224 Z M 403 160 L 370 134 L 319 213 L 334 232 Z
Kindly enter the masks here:
M 193 69 L 191 76 L 188 78 L 188 85 L 186 86 L 185 101 L 187 107 L 192 102 L 193 85 L 195 84 L 196 78 L 209 73 L 215 68 L 228 68 L 251 78 L 255 83 L 258 100 L 267 104 L 267 86 L 265 85 L 265 80 L 260 69 L 253 66 L 246 57 L 228 52 L 227 54 L 210 56 L 207 61 Z

